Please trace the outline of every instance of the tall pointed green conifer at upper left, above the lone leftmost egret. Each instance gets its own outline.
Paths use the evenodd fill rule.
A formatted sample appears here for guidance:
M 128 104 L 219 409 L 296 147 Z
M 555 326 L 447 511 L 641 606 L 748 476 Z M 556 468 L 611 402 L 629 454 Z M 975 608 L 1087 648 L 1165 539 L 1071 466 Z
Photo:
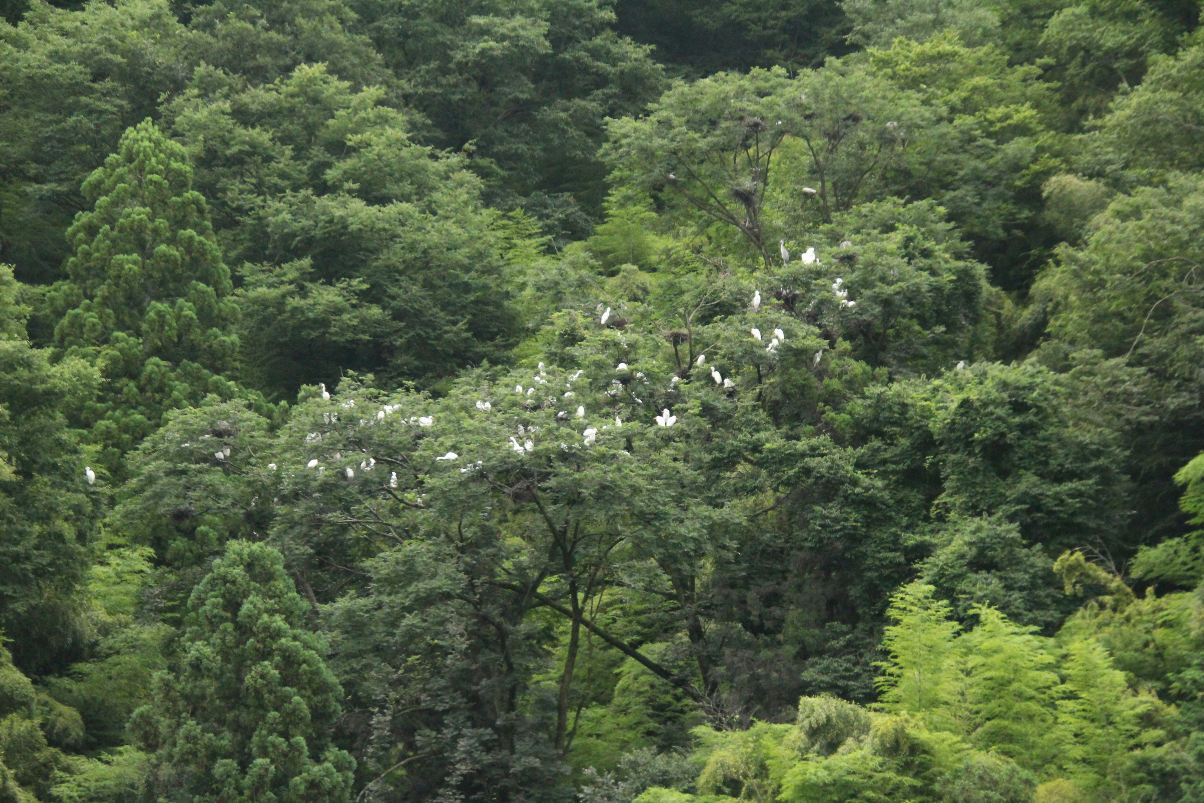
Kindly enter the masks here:
M 84 182 L 90 211 L 67 230 L 70 281 L 52 291 L 67 355 L 94 362 L 107 392 L 85 414 L 110 467 L 164 412 L 236 388 L 217 374 L 237 350 L 230 270 L 183 146 L 146 120 Z

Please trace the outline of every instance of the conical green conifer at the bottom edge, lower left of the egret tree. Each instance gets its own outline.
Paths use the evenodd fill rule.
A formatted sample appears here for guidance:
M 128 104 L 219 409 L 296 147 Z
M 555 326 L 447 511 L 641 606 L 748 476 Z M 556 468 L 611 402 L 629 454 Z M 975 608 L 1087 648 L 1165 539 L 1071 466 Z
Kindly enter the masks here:
M 348 799 L 355 762 L 330 745 L 342 689 L 305 610 L 277 550 L 226 545 L 189 598 L 178 667 L 132 718 L 158 799 Z

